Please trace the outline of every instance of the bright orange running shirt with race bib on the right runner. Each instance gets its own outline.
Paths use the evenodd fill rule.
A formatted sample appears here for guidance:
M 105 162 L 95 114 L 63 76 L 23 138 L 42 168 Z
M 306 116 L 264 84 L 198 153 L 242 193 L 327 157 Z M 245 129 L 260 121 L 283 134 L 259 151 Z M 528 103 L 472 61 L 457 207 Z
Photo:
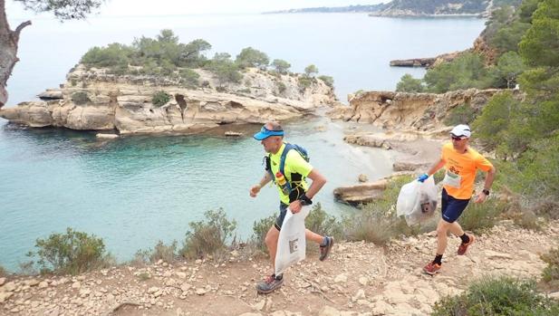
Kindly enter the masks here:
M 444 160 L 447 169 L 443 187 L 447 190 L 449 196 L 458 199 L 472 197 L 478 168 L 485 172 L 493 168 L 487 158 L 481 156 L 474 148 L 469 146 L 464 154 L 460 154 L 452 147 L 452 143 L 447 143 L 442 147 L 440 158 Z M 446 182 L 447 179 L 448 182 Z M 454 186 L 452 185 L 453 179 L 457 181 Z

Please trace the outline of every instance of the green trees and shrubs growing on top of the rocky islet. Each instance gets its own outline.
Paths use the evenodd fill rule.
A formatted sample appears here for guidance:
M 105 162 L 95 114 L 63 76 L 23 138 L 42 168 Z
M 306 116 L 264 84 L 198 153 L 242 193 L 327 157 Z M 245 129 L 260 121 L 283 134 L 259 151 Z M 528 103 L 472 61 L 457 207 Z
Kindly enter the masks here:
M 155 38 L 142 36 L 131 45 L 111 43 L 92 47 L 82 56 L 81 62 L 87 68 L 102 68 L 115 75 L 164 76 L 188 89 L 207 87 L 208 83 L 200 82 L 200 72 L 208 71 L 217 79 L 217 91 L 226 91 L 227 84 L 241 84 L 242 72 L 256 68 L 275 76 L 279 94 L 285 91 L 280 80 L 282 75 L 292 75 L 289 62 L 282 59 L 270 62 L 266 53 L 253 47 L 244 48 L 235 59 L 229 53 L 215 53 L 208 59 L 206 53 L 211 48 L 203 39 L 179 43 L 178 36 L 171 30 L 161 30 Z M 305 68 L 305 73 L 298 77 L 301 91 L 317 81 L 317 73 L 318 68 L 313 64 Z M 320 76 L 318 80 L 333 87 L 330 76 Z M 245 82 L 245 85 L 250 88 L 250 84 Z

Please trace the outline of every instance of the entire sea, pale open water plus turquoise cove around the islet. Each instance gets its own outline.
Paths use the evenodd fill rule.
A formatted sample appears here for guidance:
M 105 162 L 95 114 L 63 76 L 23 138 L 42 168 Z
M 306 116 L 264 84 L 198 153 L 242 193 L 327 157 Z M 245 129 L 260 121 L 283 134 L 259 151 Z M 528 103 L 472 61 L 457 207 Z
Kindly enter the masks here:
M 18 21 L 11 21 L 14 25 Z M 428 57 L 471 46 L 484 22 L 472 18 L 390 19 L 365 14 L 196 15 L 92 18 L 58 24 L 36 20 L 24 29 L 8 81 L 10 104 L 57 87 L 93 45 L 131 43 L 171 28 L 183 42 L 204 38 L 213 52 L 246 46 L 282 58 L 302 72 L 310 63 L 334 77 L 342 101 L 352 91 L 393 90 L 406 72 L 389 61 Z M 211 54 L 213 54 L 210 53 Z M 317 127 L 326 127 L 318 131 Z M 342 141 L 351 124 L 309 119 L 289 124 L 287 139 L 304 145 L 329 182 L 316 197 L 332 215 L 348 214 L 333 189 L 391 173 L 390 152 Z M 365 127 L 360 127 L 363 129 Z M 250 135 L 259 127 L 246 130 Z M 159 240 L 182 240 L 188 223 L 223 207 L 242 238 L 278 204 L 275 187 L 252 199 L 248 188 L 264 171 L 261 145 L 250 138 L 128 137 L 95 139 L 92 132 L 20 129 L 0 119 L 0 265 L 16 270 L 38 237 L 68 226 L 103 238 L 112 254 L 129 260 Z

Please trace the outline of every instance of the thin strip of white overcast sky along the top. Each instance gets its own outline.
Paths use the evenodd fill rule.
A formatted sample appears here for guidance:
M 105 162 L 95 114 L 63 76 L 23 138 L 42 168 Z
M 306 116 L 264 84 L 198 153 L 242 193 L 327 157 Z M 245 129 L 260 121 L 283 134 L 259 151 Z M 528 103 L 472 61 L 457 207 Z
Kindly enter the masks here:
M 166 14 L 238 14 L 261 13 L 315 6 L 375 5 L 390 0 L 107 0 L 101 16 Z M 23 5 L 6 1 L 9 18 L 33 18 Z M 42 15 L 47 16 L 47 15 Z

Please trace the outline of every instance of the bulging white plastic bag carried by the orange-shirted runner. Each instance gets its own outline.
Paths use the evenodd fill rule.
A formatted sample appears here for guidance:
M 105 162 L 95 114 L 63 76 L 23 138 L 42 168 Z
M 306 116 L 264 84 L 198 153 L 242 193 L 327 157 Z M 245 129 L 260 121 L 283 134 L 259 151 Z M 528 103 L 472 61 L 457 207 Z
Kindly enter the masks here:
M 433 177 L 423 183 L 413 180 L 400 189 L 396 203 L 396 215 L 403 215 L 408 225 L 429 219 L 437 209 L 437 187 Z

